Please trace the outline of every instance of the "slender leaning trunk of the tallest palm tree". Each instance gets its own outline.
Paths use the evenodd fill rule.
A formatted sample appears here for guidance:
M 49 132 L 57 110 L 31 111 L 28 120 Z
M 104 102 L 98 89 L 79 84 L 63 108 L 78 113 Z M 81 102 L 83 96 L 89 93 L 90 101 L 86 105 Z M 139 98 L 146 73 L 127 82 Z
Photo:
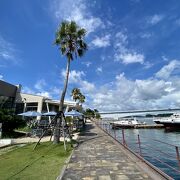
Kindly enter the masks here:
M 68 61 L 67 61 L 66 77 L 65 77 L 65 81 L 64 81 L 64 89 L 63 89 L 62 94 L 61 94 L 61 99 L 60 99 L 60 104 L 59 104 L 59 112 L 63 111 L 64 98 L 66 95 L 68 79 L 69 79 L 69 71 L 70 71 L 70 59 L 68 59 Z M 61 113 L 58 113 L 58 114 L 61 114 Z M 55 126 L 56 127 L 54 129 L 54 141 L 53 141 L 54 144 L 59 143 L 61 122 L 62 122 L 62 117 L 57 116 L 56 120 L 55 120 Z

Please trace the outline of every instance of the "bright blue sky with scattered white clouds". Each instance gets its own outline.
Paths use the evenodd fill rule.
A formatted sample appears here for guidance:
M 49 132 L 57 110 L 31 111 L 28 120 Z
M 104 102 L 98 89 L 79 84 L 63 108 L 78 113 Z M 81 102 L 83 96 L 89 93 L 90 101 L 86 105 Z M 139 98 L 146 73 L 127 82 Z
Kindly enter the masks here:
M 73 88 L 99 111 L 180 107 L 179 0 L 0 0 L 0 79 L 59 99 L 66 58 L 54 45 L 63 20 L 87 30 L 71 62 Z

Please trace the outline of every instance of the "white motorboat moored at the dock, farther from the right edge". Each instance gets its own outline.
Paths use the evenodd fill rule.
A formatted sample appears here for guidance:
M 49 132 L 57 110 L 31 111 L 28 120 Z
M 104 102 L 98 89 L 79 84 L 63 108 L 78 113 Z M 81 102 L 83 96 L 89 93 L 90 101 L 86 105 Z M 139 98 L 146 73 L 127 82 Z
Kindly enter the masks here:
M 144 125 L 145 122 L 139 122 L 136 118 L 122 118 L 119 121 L 110 123 L 113 129 L 117 128 L 136 128 L 138 125 Z

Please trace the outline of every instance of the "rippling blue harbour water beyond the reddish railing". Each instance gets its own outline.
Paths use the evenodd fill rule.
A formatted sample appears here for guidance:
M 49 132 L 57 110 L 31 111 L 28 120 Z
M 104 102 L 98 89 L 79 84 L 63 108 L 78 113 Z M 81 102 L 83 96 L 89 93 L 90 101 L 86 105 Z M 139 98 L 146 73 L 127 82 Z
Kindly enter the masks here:
M 138 119 L 139 121 L 152 124 L 152 118 Z M 116 137 L 122 142 L 122 130 L 117 129 Z M 111 129 L 114 135 L 114 130 Z M 153 165 L 164 171 L 174 179 L 180 179 L 180 162 L 177 160 L 176 148 L 179 146 L 180 152 L 180 131 L 165 131 L 165 129 L 124 129 L 125 141 L 130 149 L 141 155 Z M 139 148 L 138 134 L 141 148 Z M 162 141 L 162 142 L 158 142 Z M 164 163 L 172 166 L 166 166 Z M 178 172 L 179 171 L 179 172 Z

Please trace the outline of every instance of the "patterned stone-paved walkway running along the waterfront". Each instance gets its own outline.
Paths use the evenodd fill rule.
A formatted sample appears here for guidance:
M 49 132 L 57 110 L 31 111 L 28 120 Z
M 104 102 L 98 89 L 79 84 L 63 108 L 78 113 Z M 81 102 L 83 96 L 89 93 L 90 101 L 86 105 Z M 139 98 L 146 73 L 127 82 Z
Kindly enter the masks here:
M 123 146 L 92 122 L 87 123 L 78 142 L 59 180 L 163 179 L 147 170 L 142 161 L 130 157 Z

